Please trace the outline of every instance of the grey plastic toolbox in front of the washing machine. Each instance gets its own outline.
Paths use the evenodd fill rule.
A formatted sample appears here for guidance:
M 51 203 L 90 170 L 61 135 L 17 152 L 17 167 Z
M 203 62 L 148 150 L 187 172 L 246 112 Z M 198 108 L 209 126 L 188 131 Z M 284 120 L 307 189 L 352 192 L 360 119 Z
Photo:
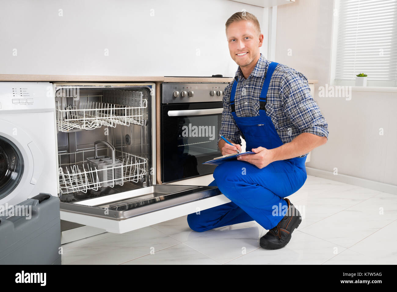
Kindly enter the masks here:
M 61 264 L 59 206 L 58 197 L 41 193 L 7 211 L 3 207 L 0 265 Z

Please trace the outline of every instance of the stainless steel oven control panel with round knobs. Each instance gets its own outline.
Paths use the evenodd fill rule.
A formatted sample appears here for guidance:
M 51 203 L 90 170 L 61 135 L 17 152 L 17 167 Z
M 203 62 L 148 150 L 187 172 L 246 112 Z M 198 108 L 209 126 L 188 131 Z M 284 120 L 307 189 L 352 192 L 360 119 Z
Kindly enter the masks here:
M 229 83 L 162 83 L 161 102 L 220 102 Z

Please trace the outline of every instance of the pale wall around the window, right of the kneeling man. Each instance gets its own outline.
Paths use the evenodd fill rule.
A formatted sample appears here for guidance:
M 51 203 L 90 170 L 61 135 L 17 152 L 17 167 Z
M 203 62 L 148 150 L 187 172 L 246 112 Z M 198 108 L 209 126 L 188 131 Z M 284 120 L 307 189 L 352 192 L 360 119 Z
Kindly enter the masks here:
M 275 61 L 318 79 L 314 98 L 330 132 L 306 166 L 330 172 L 337 167 L 338 174 L 396 185 L 397 94 L 353 91 L 351 100 L 318 96 L 319 86 L 330 85 L 332 17 L 333 0 L 278 7 Z

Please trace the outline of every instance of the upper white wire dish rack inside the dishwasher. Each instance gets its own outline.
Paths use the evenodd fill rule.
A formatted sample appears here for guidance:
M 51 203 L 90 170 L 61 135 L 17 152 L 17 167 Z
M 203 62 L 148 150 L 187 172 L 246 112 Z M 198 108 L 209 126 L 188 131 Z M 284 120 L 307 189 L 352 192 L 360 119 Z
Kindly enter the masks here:
M 80 102 L 83 98 L 85 101 Z M 99 97 L 100 102 L 90 102 L 90 97 Z M 57 101 L 56 119 L 59 131 L 91 130 L 98 127 L 145 126 L 147 100 L 142 92 L 131 90 L 108 90 L 99 96 L 79 96 L 73 105 L 61 108 Z

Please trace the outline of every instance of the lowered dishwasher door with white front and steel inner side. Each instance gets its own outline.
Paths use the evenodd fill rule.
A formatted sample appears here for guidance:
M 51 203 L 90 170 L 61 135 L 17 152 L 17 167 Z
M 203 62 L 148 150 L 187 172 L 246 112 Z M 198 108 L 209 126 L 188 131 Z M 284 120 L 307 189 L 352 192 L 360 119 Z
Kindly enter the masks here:
M 63 220 L 124 233 L 224 203 L 215 186 L 156 184 L 60 207 Z

